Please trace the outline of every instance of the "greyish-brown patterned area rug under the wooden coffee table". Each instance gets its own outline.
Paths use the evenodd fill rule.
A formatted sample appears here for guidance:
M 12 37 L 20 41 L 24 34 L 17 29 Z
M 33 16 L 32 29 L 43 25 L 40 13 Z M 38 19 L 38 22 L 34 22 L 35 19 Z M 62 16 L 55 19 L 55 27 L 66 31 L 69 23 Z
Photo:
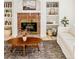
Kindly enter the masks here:
M 14 52 L 11 52 L 8 44 L 5 43 L 4 58 L 5 59 L 66 59 L 57 44 L 56 40 L 43 41 L 38 49 L 28 48 L 26 54 L 23 55 L 22 47 L 18 47 Z

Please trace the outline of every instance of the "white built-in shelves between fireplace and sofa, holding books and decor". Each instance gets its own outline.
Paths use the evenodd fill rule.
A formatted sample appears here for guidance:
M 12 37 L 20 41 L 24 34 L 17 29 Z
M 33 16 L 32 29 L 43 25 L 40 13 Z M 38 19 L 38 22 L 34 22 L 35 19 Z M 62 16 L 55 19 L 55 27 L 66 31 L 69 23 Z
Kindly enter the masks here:
M 49 32 L 51 30 L 51 35 L 57 35 L 57 28 L 58 28 L 58 18 L 59 18 L 59 4 L 58 2 L 48 1 L 46 3 L 46 16 L 47 16 L 47 23 L 46 23 L 46 31 Z M 50 34 L 49 34 L 50 35 Z

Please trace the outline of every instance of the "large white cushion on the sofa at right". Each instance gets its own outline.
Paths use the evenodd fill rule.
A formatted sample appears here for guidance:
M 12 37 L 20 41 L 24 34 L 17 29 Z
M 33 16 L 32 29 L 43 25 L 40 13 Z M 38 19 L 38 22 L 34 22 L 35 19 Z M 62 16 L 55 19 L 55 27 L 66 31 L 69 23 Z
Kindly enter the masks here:
M 68 33 L 61 33 L 61 38 L 65 47 L 69 50 L 71 54 L 73 54 L 74 47 L 75 47 L 74 37 Z

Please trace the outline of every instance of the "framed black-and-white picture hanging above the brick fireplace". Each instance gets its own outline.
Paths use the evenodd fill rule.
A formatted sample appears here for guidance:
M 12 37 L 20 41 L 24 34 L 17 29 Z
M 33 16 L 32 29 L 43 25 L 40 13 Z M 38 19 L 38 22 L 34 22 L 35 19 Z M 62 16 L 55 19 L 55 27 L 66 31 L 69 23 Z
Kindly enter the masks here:
M 36 10 L 36 0 L 23 0 L 23 10 Z

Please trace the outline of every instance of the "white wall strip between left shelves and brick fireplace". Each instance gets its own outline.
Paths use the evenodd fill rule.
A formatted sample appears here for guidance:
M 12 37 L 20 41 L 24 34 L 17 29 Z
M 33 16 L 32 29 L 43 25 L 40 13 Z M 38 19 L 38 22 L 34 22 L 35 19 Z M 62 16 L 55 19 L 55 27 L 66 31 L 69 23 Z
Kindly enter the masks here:
M 16 36 L 18 34 L 17 29 L 17 13 L 21 12 L 22 9 L 22 0 L 13 0 L 13 9 L 12 9 L 12 36 Z

